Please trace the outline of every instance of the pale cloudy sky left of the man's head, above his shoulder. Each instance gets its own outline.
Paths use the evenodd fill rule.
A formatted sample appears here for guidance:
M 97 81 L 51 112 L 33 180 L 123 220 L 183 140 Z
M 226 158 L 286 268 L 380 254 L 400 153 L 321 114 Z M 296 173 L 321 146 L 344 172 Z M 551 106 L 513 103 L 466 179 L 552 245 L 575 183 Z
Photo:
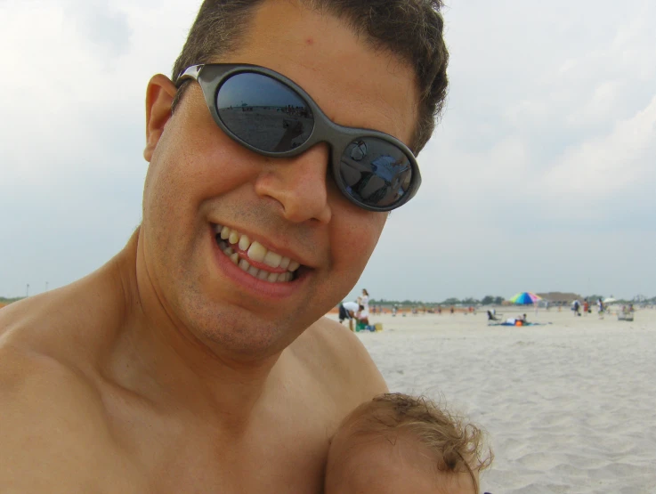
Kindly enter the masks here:
M 141 217 L 146 85 L 197 9 L 0 3 L 0 296 L 69 283 L 125 244 Z

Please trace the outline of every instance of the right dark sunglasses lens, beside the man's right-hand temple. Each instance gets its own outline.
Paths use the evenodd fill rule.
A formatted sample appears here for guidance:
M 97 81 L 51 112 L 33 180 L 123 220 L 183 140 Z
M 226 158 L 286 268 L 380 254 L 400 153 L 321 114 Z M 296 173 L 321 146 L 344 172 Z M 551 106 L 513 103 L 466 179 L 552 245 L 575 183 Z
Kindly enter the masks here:
M 376 137 L 357 139 L 346 146 L 339 173 L 352 198 L 370 207 L 393 209 L 412 182 L 412 166 L 405 152 Z

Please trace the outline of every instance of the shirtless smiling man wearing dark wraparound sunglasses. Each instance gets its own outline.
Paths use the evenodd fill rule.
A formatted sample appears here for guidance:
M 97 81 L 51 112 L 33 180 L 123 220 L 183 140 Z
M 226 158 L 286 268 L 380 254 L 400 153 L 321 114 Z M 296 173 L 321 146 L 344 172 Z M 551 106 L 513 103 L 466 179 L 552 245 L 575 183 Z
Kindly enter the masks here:
M 201 5 L 173 80 L 146 92 L 140 227 L 0 312 L 3 491 L 321 492 L 328 438 L 386 391 L 322 316 L 417 192 L 447 87 L 440 8 Z M 378 193 L 384 155 L 403 166 Z

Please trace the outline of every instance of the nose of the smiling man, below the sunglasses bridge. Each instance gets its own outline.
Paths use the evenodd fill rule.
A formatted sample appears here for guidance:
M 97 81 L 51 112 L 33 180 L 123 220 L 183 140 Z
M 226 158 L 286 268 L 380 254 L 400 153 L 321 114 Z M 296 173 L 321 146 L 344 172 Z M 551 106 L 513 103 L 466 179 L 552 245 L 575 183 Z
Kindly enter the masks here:
M 279 202 L 290 222 L 328 223 L 328 144 L 320 143 L 294 158 L 272 158 L 255 182 L 255 192 Z

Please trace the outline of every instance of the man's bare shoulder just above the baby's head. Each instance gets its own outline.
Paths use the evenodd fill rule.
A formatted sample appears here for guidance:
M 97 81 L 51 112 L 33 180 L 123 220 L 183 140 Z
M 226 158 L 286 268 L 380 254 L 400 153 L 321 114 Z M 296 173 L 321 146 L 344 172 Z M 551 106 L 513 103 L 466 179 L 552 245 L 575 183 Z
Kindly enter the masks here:
M 292 350 L 331 394 L 359 404 L 387 391 L 360 338 L 334 320 L 318 320 L 296 339 Z

